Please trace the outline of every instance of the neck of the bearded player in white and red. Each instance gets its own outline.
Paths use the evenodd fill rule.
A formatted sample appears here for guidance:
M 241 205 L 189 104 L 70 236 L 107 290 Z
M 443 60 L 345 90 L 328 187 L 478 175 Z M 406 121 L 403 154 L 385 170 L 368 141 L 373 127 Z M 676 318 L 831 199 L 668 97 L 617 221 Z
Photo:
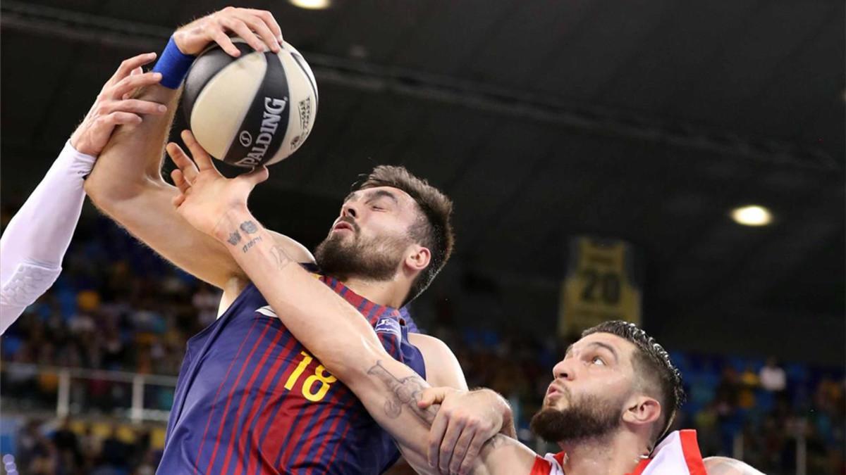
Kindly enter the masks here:
M 608 437 L 580 440 L 572 444 L 559 444 L 567 454 L 563 469 L 567 475 L 620 475 L 637 467 L 639 444 L 632 434 L 618 432 Z

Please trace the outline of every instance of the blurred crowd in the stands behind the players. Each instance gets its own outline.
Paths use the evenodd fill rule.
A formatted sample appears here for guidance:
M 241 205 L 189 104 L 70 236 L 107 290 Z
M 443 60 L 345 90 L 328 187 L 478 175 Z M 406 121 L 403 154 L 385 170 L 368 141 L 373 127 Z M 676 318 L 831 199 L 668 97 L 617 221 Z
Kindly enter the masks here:
M 98 219 L 77 232 L 51 291 L 3 336 L 3 362 L 175 375 L 187 339 L 215 319 L 217 299 L 215 289 Z M 449 317 L 426 323 L 456 352 L 470 387 L 490 387 L 512 401 L 520 438 L 538 447 L 528 420 L 552 378 L 552 366 L 572 341 L 462 329 Z M 804 441 L 808 473 L 846 473 L 842 367 L 672 355 L 689 396 L 675 425 L 697 429 L 703 455 L 742 454 L 762 472 L 787 474 L 795 471 L 797 441 Z M 4 417 L 9 407 L 20 413 L 55 410 L 56 374 L 37 373 L 30 365 L 4 365 L 2 376 Z M 114 415 L 116 408 L 125 410 L 131 404 L 130 389 L 129 383 L 105 379 L 74 381 L 70 398 L 75 421 L 30 419 L 20 424 L 14 437 L 17 471 L 154 472 L 160 447 L 151 444 L 148 429 L 128 429 L 124 420 L 123 435 L 118 435 L 118 426 L 95 434 L 86 422 Z M 172 398 L 172 388 L 149 390 L 145 406 L 166 411 Z

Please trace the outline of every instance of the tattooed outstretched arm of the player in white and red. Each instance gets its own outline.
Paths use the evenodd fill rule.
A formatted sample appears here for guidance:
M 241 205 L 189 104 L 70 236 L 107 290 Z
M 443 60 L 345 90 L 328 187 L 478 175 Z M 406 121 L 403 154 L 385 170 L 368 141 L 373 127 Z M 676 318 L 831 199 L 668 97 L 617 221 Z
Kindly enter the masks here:
M 385 352 L 367 321 L 335 292 L 296 265 L 246 209 L 246 197 L 267 177 L 266 168 L 228 180 L 184 137 L 198 174 L 191 184 L 177 179 L 183 194 L 174 200 L 179 214 L 218 242 L 246 271 L 288 330 L 364 403 L 371 416 L 396 440 L 406 460 L 422 473 L 428 435 L 438 407 L 420 408 L 424 379 Z M 170 150 L 172 146 L 168 147 Z M 179 178 L 177 173 L 176 178 Z M 529 473 L 535 454 L 504 435 L 481 451 L 475 473 Z

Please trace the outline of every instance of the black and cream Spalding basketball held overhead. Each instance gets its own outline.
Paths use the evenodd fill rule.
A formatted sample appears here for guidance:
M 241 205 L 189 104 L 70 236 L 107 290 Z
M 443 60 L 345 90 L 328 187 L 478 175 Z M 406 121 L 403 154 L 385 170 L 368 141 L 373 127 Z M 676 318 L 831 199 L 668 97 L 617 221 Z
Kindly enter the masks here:
M 294 46 L 256 52 L 235 39 L 231 57 L 213 46 L 185 79 L 183 106 L 197 142 L 238 167 L 272 165 L 309 136 L 317 113 L 317 83 Z

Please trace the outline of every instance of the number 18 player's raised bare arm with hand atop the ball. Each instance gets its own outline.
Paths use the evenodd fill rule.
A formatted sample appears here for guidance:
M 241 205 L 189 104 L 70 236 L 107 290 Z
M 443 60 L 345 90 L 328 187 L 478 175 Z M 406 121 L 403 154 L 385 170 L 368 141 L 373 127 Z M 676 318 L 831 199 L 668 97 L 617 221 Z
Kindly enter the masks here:
M 217 42 L 224 51 L 239 56 L 228 32 L 256 49 L 269 46 L 278 51 L 281 33 L 276 20 L 269 12 L 250 8 L 224 8 L 197 19 L 176 30 L 173 43 L 183 55 L 196 55 Z M 181 77 L 174 80 L 167 71 L 165 76 L 164 84 L 179 88 Z M 85 191 L 100 210 L 173 264 L 212 285 L 239 292 L 244 273 L 220 243 L 196 231 L 173 210 L 171 201 L 178 190 L 162 179 L 164 143 L 179 104 L 179 89 L 151 85 L 137 97 L 167 106 L 168 112 L 118 128 L 85 181 Z M 281 235 L 277 239 L 290 244 L 288 252 L 294 259 L 311 259 L 299 244 Z

